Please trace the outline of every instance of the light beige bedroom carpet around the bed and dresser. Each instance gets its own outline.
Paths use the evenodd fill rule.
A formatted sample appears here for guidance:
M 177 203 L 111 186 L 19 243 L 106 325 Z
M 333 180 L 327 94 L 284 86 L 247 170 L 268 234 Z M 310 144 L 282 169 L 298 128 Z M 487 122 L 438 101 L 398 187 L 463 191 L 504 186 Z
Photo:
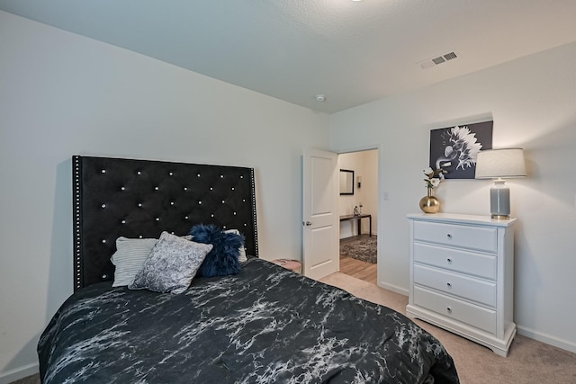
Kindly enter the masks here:
M 367 281 L 336 272 L 321 279 L 361 299 L 382 304 L 406 315 L 408 297 Z M 415 321 L 444 344 L 455 361 L 463 384 L 576 383 L 576 353 L 517 335 L 504 358 L 490 349 L 437 326 Z

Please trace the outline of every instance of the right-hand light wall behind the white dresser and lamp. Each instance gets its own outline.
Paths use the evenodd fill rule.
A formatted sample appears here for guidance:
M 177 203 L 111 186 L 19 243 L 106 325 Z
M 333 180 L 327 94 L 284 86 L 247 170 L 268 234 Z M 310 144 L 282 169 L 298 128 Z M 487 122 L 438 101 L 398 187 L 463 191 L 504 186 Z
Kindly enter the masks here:
M 523 147 L 507 182 L 516 231 L 514 318 L 523 335 L 576 352 L 576 43 L 330 115 L 332 150 L 382 146 L 379 284 L 406 293 L 406 215 L 426 194 L 429 130 L 494 121 L 493 147 Z M 490 214 L 488 180 L 448 180 L 442 211 Z M 388 192 L 389 200 L 383 200 Z

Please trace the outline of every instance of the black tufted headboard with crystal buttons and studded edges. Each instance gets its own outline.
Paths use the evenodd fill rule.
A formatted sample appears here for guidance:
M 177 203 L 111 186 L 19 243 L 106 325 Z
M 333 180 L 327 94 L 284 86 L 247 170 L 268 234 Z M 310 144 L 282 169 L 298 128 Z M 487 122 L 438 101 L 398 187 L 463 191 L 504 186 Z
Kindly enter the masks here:
M 254 169 L 73 156 L 74 289 L 113 279 L 117 237 L 238 229 L 258 256 Z

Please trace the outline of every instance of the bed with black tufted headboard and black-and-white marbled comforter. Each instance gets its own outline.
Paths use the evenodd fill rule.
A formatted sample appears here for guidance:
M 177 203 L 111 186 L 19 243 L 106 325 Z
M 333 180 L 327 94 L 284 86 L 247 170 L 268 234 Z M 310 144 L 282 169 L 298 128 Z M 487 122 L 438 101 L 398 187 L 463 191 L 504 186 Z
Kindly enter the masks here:
M 252 168 L 72 162 L 75 292 L 40 335 L 43 383 L 458 382 L 446 349 L 407 317 L 259 257 Z M 238 271 L 202 274 L 206 256 L 176 294 L 134 287 L 145 267 L 131 289 L 117 285 L 120 239 L 156 241 L 145 263 L 166 238 L 211 255 L 216 240 L 185 237 L 198 227 L 239 233 L 243 249 L 226 248 L 247 254 Z

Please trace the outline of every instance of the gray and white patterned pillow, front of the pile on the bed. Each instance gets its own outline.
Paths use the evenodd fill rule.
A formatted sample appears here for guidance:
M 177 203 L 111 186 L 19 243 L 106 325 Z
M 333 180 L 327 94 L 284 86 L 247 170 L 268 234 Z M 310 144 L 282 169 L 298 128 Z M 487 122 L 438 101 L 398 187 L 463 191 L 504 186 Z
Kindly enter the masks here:
M 211 249 L 211 244 L 194 243 L 162 232 L 152 253 L 128 288 L 182 293 L 190 286 Z

